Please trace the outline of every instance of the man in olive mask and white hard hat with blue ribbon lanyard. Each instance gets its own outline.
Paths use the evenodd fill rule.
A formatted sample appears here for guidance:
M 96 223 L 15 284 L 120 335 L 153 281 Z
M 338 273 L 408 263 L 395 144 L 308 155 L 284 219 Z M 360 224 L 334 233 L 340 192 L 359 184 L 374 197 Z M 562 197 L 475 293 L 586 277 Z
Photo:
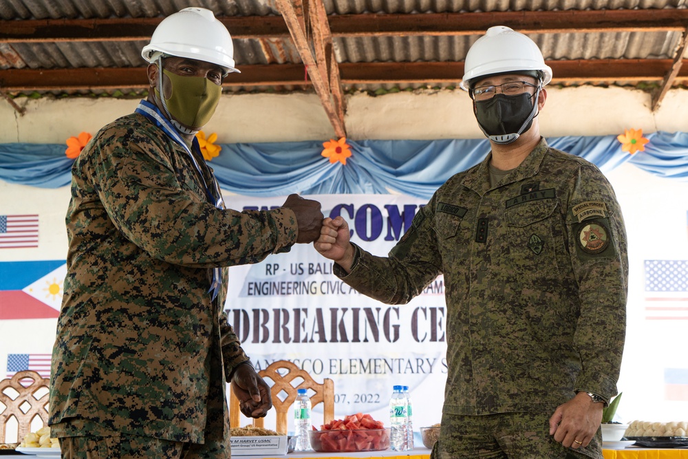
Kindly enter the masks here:
M 142 54 L 148 99 L 72 168 L 52 436 L 63 458 L 229 458 L 226 381 L 246 416 L 272 400 L 223 311 L 226 266 L 313 242 L 323 214 L 298 195 L 224 208 L 195 139 L 238 72 L 213 12 L 172 14 Z

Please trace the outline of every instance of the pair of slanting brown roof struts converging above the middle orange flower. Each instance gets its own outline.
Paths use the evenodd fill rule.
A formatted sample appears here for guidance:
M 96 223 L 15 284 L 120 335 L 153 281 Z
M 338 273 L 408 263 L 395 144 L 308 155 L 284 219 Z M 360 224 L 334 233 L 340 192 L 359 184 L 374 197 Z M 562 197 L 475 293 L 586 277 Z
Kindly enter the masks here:
M 337 100 L 333 95 L 332 86 L 330 85 L 330 74 L 336 70 L 336 61 L 334 65 L 330 65 L 328 71 L 326 55 L 325 40 L 330 37 L 330 47 L 332 46 L 332 38 L 330 35 L 329 25 L 326 18 L 319 18 L 319 6 L 316 2 L 322 0 L 276 0 L 277 8 L 279 8 L 284 22 L 289 28 L 289 33 L 294 41 L 294 45 L 299 51 L 301 60 L 306 65 L 308 75 L 312 81 L 315 92 L 318 94 L 325 114 L 330 119 L 332 127 L 334 127 L 334 134 L 338 137 L 346 137 L 346 128 L 344 126 L 343 106 L 341 104 L 341 96 Z M 320 5 L 324 14 L 325 7 Z M 309 9 L 313 11 L 309 12 Z M 315 25 L 315 27 L 313 27 Z M 313 43 L 313 39 L 309 32 L 317 29 L 317 41 Z M 333 68 L 334 67 L 334 68 Z M 334 90 L 338 94 L 343 94 L 341 87 Z

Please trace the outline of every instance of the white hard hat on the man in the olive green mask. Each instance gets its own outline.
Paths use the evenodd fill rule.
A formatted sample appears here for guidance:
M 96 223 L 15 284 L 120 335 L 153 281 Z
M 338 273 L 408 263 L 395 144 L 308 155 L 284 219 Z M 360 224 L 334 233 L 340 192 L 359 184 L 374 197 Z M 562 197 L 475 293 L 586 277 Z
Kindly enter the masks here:
M 232 36 L 215 14 L 205 8 L 184 8 L 158 24 L 141 56 L 153 63 L 160 54 L 217 64 L 225 75 L 239 72 L 234 62 Z

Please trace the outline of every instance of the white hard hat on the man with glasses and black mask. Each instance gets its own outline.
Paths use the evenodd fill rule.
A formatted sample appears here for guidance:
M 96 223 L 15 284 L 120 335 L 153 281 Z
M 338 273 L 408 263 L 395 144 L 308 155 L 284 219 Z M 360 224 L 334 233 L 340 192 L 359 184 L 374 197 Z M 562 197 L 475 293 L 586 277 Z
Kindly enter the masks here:
M 539 72 L 542 85 L 552 81 L 552 69 L 545 64 L 535 41 L 504 25 L 496 25 L 473 43 L 460 83 L 468 91 L 471 81 L 494 74 Z

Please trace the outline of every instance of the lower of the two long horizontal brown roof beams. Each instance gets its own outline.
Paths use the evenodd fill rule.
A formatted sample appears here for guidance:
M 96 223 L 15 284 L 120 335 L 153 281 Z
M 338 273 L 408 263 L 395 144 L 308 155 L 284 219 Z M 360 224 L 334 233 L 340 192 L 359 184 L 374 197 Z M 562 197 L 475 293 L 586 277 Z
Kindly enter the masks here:
M 672 59 L 596 59 L 547 61 L 552 84 L 596 81 L 663 81 L 674 66 Z M 353 84 L 458 83 L 463 62 L 340 63 L 341 82 Z M 230 74 L 226 87 L 304 86 L 303 64 L 241 65 L 240 74 Z M 688 66 L 678 70 L 676 80 L 688 81 Z M 0 88 L 8 93 L 58 89 L 145 89 L 145 67 L 78 69 L 0 70 Z

